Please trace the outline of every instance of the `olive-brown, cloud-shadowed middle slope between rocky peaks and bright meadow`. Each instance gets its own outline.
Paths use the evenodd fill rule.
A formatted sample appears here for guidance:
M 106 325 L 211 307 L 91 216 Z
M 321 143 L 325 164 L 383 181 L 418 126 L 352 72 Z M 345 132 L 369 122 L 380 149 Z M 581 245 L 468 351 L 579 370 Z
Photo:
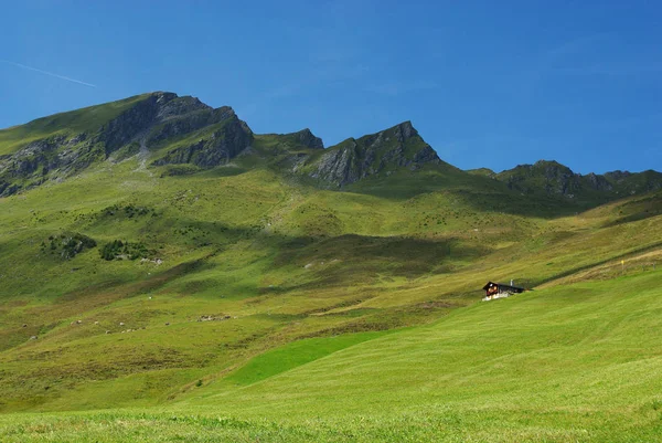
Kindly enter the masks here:
M 264 168 L 160 178 L 137 166 L 0 201 L 3 410 L 170 402 L 293 339 L 428 323 L 487 279 L 552 281 L 654 249 L 662 229 L 658 199 L 547 220 L 462 188 L 405 199 L 289 186 Z M 163 264 L 40 250 L 65 231 L 143 242 Z M 223 319 L 196 321 L 210 315 Z

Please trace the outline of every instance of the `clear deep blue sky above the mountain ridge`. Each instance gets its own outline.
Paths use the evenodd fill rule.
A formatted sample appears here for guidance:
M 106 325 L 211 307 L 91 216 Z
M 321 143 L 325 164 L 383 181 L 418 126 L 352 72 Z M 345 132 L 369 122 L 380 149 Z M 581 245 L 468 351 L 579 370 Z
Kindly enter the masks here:
M 660 1 L 0 2 L 0 127 L 171 91 L 325 146 L 412 120 L 463 169 L 662 170 Z

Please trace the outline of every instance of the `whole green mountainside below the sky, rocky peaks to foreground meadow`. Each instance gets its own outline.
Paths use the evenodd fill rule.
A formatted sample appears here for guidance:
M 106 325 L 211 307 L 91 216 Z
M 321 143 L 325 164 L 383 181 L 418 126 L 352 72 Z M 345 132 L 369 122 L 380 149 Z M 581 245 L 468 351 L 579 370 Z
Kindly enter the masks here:
M 1 130 L 0 152 L 0 412 L 138 408 L 174 437 L 166 409 L 231 441 L 351 440 L 361 416 L 364 440 L 384 423 L 392 440 L 427 440 L 418 429 L 439 423 L 449 439 L 489 440 L 511 413 L 512 435 L 534 441 L 538 425 L 549 441 L 577 440 L 577 426 L 599 441 L 611 419 L 622 435 L 655 429 L 653 379 L 636 375 L 658 356 L 656 172 L 588 190 L 557 164 L 462 171 L 408 122 L 324 148 L 310 129 L 255 134 L 227 106 L 171 93 Z M 554 171 L 583 188 L 556 192 Z M 478 303 L 487 281 L 510 279 L 536 291 Z M 628 361 L 637 371 L 618 372 Z M 617 375 L 640 384 L 601 407 L 620 388 L 591 383 Z M 232 419 L 192 419 L 207 412 Z M 36 426 L 55 441 L 151 426 L 90 414 Z M 12 433 L 32 420 L 0 416 L 0 440 L 36 440 L 38 428 Z

